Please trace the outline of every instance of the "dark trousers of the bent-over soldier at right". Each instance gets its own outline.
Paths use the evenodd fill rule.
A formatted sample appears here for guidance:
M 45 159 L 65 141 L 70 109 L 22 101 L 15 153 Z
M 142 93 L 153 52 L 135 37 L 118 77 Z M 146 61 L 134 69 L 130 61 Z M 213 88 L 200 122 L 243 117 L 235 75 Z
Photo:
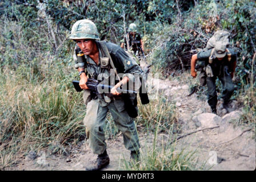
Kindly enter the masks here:
M 208 104 L 210 105 L 211 109 L 216 109 L 217 106 L 217 93 L 216 93 L 216 81 L 217 76 L 207 77 L 206 84 L 207 84 L 207 94 L 208 94 Z M 229 101 L 231 95 L 234 92 L 234 84 L 232 78 L 229 73 L 223 73 L 222 76 L 218 76 L 219 80 L 222 83 L 222 95 L 221 98 L 224 102 Z

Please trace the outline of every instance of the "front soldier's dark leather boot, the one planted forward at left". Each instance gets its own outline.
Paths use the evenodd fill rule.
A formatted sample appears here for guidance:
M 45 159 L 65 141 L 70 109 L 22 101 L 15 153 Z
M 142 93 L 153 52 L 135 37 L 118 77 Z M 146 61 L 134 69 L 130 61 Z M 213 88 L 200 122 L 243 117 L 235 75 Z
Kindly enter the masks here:
M 87 166 L 85 169 L 86 171 L 98 171 L 104 167 L 109 165 L 109 155 L 105 151 L 103 154 L 98 155 L 98 158 L 94 164 Z

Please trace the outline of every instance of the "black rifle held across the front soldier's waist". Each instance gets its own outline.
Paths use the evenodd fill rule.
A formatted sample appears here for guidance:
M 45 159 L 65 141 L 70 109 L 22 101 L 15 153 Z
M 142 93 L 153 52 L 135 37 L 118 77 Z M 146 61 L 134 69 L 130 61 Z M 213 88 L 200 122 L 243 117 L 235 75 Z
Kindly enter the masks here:
M 75 90 L 77 90 L 77 92 L 81 92 L 83 90 L 79 86 L 79 81 L 73 80 L 73 85 L 74 85 Z M 95 94 L 101 94 L 98 92 L 99 90 L 104 90 L 104 91 L 107 90 L 108 93 L 110 93 L 110 90 L 114 87 L 114 86 L 110 86 L 110 85 L 100 84 L 98 80 L 95 80 L 93 78 L 88 78 L 86 85 L 88 86 L 89 90 Z M 117 88 L 117 92 L 119 92 L 119 93 L 137 93 L 134 90 L 126 90 L 126 89 L 121 89 L 121 88 Z

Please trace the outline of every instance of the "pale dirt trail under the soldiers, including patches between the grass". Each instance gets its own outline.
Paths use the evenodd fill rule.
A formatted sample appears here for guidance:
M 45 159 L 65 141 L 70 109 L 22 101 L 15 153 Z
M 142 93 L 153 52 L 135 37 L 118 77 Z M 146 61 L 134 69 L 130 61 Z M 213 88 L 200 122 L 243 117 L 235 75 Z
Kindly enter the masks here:
M 184 77 L 189 76 L 187 73 Z M 218 117 L 210 113 L 210 107 L 205 99 L 198 99 L 197 94 L 189 94 L 189 85 L 176 78 L 159 80 L 159 88 L 170 102 L 175 102 L 179 112 L 179 124 L 181 133 L 185 135 L 209 126 L 219 126 L 215 129 L 203 130 L 184 137 L 176 143 L 177 151 L 186 148 L 187 151 L 197 150 L 195 155 L 198 164 L 205 163 L 205 167 L 211 170 L 253 170 L 255 169 L 255 136 L 248 127 L 234 127 L 232 115 Z M 239 114 L 239 109 L 234 114 Z M 208 114 L 207 114 L 208 113 Z M 205 114 L 205 115 L 203 115 Z M 207 114 L 207 115 L 206 115 Z M 206 117 L 204 122 L 200 117 Z M 241 134 L 242 133 L 242 134 Z M 145 147 L 153 143 L 153 134 L 140 133 L 139 139 L 142 152 Z M 159 135 L 159 140 L 161 135 Z M 130 153 L 123 146 L 122 135 L 115 139 L 107 140 L 107 151 L 110 156 L 110 165 L 103 170 L 118 170 L 123 165 L 123 159 L 129 160 Z M 87 164 L 94 162 L 97 155 L 91 153 L 86 140 L 73 148 L 73 155 L 59 158 L 47 155 L 36 159 L 21 159 L 17 167 L 12 170 L 85 170 Z M 41 165 L 38 163 L 42 162 Z

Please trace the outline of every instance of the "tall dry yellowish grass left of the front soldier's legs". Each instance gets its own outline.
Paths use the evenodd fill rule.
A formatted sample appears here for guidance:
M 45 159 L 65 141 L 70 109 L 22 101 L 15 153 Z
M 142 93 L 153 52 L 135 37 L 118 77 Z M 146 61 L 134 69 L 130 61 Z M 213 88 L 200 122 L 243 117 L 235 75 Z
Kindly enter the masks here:
M 29 150 L 50 147 L 62 154 L 62 146 L 84 138 L 81 94 L 59 81 L 27 81 L 23 72 L 0 72 L 0 167 L 15 163 Z M 19 156 L 20 154 L 21 156 Z

